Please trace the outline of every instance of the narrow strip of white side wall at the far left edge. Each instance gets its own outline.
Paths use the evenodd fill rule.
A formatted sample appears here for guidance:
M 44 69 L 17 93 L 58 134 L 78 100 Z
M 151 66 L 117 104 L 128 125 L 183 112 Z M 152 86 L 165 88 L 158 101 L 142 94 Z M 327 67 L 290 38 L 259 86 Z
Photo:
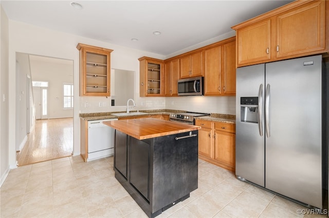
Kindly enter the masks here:
M 9 172 L 9 83 L 8 83 L 9 25 L 0 5 L 0 187 Z M 12 85 L 14 86 L 14 85 Z M 5 98 L 5 99 L 4 99 Z M 14 129 L 13 129 L 14 130 Z M 13 131 L 14 132 L 14 131 Z M 12 144 L 14 151 L 14 144 Z

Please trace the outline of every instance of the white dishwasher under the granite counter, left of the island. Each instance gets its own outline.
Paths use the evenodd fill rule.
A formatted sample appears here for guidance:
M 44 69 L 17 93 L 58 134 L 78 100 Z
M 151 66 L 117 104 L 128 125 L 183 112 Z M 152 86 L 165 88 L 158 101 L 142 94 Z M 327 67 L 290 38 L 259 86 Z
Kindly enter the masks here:
M 115 129 L 105 125 L 104 121 L 118 120 L 90 120 L 88 121 L 88 158 L 87 161 L 105 158 L 114 154 Z

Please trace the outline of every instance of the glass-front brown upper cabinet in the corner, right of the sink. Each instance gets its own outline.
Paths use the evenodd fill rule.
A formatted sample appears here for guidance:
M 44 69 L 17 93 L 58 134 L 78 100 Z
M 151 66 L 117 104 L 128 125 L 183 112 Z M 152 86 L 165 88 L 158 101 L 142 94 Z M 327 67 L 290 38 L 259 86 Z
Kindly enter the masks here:
M 163 60 L 141 57 L 139 60 L 139 96 L 163 96 Z

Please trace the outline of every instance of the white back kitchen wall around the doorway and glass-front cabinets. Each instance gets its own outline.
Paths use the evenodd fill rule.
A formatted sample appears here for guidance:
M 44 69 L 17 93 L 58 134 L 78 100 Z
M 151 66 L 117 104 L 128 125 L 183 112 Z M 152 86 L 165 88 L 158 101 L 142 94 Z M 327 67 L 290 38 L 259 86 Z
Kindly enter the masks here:
M 76 46 L 79 42 L 108 49 L 111 53 L 111 68 L 136 72 L 135 74 L 135 101 L 142 108 L 165 108 L 165 98 L 139 98 L 139 61 L 142 56 L 165 59 L 163 56 L 134 50 L 110 43 L 85 38 L 77 35 L 53 31 L 45 28 L 28 25 L 9 20 L 9 84 L 15 84 L 15 53 L 42 55 L 70 59 L 74 61 L 74 92 L 79 93 L 79 51 Z M 9 86 L 9 119 L 15 120 L 16 90 L 14 85 Z M 99 107 L 99 102 L 111 99 L 105 97 L 75 97 L 74 100 L 74 155 L 80 154 L 80 118 L 79 113 L 124 111 L 125 107 Z M 87 102 L 87 104 L 85 104 Z M 144 104 L 144 105 L 141 105 Z M 85 107 L 85 105 L 88 105 Z M 15 123 L 9 126 L 9 163 L 15 165 Z

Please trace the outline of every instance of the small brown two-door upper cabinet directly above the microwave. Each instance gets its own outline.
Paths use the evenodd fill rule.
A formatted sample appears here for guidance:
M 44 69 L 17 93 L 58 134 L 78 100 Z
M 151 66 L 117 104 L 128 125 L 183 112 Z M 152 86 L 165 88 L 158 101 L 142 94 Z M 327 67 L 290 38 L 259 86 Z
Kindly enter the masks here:
M 203 76 L 203 51 L 193 52 L 179 58 L 180 79 Z

